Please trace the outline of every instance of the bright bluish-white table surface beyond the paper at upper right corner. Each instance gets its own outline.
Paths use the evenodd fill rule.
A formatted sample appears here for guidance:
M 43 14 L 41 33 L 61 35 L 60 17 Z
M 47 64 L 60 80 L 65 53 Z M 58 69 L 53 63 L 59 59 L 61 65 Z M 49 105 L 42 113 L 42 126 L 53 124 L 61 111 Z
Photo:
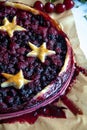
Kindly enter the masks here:
M 75 0 L 75 7 L 72 9 L 80 46 L 87 57 L 87 2 L 81 3 Z

